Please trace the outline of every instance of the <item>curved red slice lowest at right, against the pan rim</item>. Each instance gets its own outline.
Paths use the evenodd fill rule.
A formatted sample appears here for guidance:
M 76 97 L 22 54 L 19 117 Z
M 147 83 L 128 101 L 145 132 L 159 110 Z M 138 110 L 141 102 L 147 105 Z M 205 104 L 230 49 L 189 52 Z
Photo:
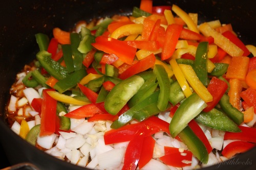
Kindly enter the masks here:
M 238 153 L 244 153 L 255 147 L 255 144 L 246 141 L 233 141 L 226 145 L 222 151 L 222 155 L 231 158 Z

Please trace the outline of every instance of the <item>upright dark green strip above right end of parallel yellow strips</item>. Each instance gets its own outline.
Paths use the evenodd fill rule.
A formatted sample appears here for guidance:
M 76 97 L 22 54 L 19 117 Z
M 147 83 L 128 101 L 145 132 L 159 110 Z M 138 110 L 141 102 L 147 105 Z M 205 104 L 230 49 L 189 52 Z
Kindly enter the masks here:
M 200 42 L 197 47 L 195 57 L 195 72 L 199 80 L 204 86 L 209 84 L 207 74 L 207 53 L 208 53 L 208 42 Z

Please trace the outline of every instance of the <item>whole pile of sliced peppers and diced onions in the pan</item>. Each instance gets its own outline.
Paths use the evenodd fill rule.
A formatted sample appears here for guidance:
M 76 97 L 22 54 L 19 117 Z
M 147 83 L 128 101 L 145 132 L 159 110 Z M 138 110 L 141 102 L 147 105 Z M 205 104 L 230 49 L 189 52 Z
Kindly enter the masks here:
M 11 129 L 95 169 L 193 169 L 255 146 L 256 47 L 231 23 L 141 1 L 131 16 L 38 33 L 11 87 Z

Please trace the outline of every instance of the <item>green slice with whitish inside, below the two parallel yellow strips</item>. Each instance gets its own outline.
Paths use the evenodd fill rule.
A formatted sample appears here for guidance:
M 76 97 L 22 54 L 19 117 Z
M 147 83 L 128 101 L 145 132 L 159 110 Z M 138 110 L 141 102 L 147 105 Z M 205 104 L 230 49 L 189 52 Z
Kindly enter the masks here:
M 188 96 L 178 107 L 170 122 L 170 135 L 176 137 L 187 126 L 190 120 L 195 118 L 206 107 L 207 104 L 197 93 Z

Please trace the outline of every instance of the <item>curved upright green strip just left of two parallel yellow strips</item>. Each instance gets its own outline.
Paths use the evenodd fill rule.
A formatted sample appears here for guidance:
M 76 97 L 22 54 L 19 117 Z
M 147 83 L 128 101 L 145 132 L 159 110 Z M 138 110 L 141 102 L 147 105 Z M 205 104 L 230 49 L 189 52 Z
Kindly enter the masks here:
M 164 111 L 169 102 L 170 81 L 163 65 L 156 64 L 153 72 L 157 76 L 157 81 L 160 87 L 157 107 L 159 110 Z

